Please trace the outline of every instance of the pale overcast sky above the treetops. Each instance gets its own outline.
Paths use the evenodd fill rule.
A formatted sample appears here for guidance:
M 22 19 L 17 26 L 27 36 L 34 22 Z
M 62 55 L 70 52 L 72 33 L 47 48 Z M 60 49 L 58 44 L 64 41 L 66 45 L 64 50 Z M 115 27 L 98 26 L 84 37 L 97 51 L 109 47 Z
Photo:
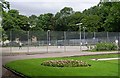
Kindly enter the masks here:
M 100 0 L 6 0 L 11 9 L 19 10 L 23 15 L 40 15 L 57 13 L 64 7 L 72 7 L 74 11 L 83 11 L 99 3 Z

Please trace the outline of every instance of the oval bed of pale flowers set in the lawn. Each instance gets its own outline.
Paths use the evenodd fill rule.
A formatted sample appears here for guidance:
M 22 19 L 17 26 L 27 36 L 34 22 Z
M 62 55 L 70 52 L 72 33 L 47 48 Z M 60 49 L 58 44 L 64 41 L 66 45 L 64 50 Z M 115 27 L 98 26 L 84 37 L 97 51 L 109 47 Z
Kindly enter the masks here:
M 51 67 L 88 67 L 91 66 L 83 61 L 78 60 L 49 60 L 44 61 L 41 65 Z

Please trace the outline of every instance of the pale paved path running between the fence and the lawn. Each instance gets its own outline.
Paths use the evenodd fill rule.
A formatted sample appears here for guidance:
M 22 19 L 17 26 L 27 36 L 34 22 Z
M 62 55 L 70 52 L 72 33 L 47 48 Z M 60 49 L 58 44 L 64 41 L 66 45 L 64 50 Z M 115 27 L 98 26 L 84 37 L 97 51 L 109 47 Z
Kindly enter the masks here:
M 44 54 L 35 54 L 35 55 L 3 56 L 3 65 L 7 62 L 10 62 L 13 60 L 20 60 L 20 59 L 83 56 L 83 55 L 96 55 L 96 54 L 109 54 L 109 53 L 118 53 L 118 51 L 116 52 L 60 52 L 60 53 L 44 53 Z

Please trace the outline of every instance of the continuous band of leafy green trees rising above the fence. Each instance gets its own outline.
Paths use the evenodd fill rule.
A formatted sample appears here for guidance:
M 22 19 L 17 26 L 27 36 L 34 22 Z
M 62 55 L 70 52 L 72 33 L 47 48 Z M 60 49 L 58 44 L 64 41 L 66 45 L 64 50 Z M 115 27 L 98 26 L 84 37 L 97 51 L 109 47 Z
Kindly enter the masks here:
M 9 2 L 2 2 L 2 9 L 9 9 Z M 120 2 L 104 2 L 85 9 L 83 12 L 75 12 L 71 7 L 64 7 L 55 15 L 52 13 L 21 15 L 18 10 L 9 9 L 3 11 L 2 26 L 5 31 L 79 31 L 78 23 L 82 23 L 88 32 L 119 32 L 120 31 Z

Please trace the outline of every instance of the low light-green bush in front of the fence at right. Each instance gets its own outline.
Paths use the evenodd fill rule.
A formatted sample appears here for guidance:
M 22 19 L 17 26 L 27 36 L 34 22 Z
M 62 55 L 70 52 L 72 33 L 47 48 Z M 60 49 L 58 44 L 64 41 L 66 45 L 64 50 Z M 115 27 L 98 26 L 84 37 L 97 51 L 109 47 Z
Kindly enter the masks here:
M 117 50 L 117 46 L 113 43 L 97 43 L 95 48 L 92 49 L 93 51 L 111 51 Z

